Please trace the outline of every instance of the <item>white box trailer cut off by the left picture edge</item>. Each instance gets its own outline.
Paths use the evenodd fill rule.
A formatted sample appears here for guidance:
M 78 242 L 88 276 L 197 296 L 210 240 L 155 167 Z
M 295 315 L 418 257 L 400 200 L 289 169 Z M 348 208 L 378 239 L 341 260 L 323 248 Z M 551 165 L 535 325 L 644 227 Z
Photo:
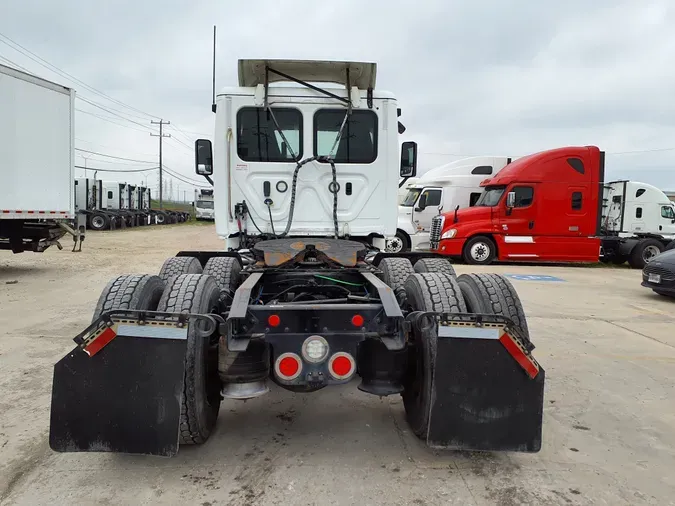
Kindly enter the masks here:
M 0 249 L 42 252 L 66 233 L 80 238 L 74 104 L 73 89 L 0 65 Z

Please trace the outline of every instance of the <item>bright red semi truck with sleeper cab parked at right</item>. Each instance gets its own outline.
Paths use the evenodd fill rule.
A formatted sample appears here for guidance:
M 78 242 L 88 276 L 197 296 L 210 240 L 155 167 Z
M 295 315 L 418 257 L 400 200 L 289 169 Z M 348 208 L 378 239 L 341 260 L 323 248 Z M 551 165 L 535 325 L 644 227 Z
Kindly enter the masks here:
M 431 249 L 471 264 L 597 262 L 604 168 L 595 146 L 519 158 L 481 183 L 474 207 L 434 218 Z

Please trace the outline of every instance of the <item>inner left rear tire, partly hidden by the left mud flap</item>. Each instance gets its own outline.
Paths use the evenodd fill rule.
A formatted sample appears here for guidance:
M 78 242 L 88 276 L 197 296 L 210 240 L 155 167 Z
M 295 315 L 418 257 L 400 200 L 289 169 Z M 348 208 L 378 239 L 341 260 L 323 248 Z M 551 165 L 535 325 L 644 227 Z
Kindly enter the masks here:
M 158 310 L 172 313 L 212 313 L 218 309 L 220 290 L 216 280 L 202 274 L 181 274 L 167 283 Z M 220 410 L 220 378 L 217 345 L 188 327 L 185 379 L 180 413 L 180 444 L 204 443 Z M 214 366 L 215 365 L 215 366 Z

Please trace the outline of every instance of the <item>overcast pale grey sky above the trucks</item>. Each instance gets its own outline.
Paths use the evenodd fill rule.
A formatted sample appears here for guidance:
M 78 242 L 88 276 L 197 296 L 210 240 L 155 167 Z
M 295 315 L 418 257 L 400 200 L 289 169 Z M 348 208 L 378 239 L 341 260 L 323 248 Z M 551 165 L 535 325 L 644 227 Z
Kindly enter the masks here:
M 165 163 L 192 180 L 194 139 L 211 136 L 213 129 L 215 24 L 219 87 L 236 85 L 238 58 L 377 62 L 377 85 L 396 94 L 408 129 L 402 140 L 419 143 L 423 170 L 464 156 L 594 144 L 608 153 L 608 178 L 675 190 L 673 5 L 2 0 L 0 63 L 9 60 L 72 85 L 79 97 L 108 109 L 78 102 L 85 111 L 76 115 L 80 149 L 155 162 L 158 141 L 150 136 L 148 115 L 170 120 Z M 81 82 L 31 60 L 3 36 Z M 84 164 L 82 154 L 78 165 Z M 87 156 L 89 167 L 152 166 Z M 145 174 L 156 187 L 156 172 Z M 141 182 L 144 176 L 103 179 Z M 185 182 L 173 185 L 174 197 L 178 185 L 181 198 L 184 190 L 192 191 Z

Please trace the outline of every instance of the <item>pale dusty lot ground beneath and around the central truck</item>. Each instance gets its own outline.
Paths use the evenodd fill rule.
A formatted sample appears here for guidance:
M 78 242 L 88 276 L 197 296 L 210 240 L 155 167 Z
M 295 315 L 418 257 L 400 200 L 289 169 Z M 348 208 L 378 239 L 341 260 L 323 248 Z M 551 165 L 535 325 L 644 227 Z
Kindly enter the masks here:
M 179 225 L 0 252 L 0 504 L 675 504 L 675 300 L 630 269 L 485 269 L 560 279 L 512 280 L 546 369 L 537 454 L 430 451 L 400 397 L 355 385 L 225 401 L 211 439 L 171 459 L 53 452 L 52 366 L 106 282 L 221 247 L 212 226 Z

